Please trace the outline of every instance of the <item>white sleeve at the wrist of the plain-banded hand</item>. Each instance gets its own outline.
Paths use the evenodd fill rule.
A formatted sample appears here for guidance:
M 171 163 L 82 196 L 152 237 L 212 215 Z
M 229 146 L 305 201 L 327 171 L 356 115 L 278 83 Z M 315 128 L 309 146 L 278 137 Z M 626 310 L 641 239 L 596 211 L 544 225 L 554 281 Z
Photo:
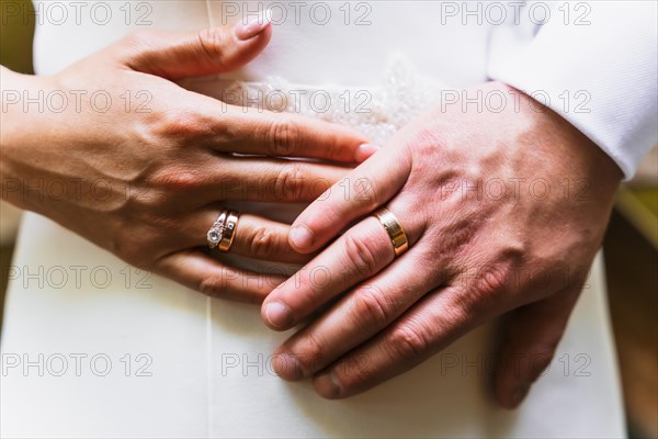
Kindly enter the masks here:
M 519 22 L 494 32 L 489 77 L 560 114 L 629 179 L 658 138 L 658 2 L 551 4 L 518 14 L 531 37 Z

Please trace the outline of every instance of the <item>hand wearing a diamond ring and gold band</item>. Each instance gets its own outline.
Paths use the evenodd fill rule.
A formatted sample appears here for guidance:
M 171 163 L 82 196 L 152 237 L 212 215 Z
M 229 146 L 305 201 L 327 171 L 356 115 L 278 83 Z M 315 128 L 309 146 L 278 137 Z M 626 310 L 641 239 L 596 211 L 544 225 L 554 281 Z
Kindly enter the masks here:
M 370 155 L 350 130 L 245 112 L 173 82 L 239 68 L 271 32 L 257 22 L 138 33 L 52 77 L 2 68 L 3 199 L 192 289 L 262 300 L 281 279 L 226 267 L 198 250 L 222 203 L 309 202 L 347 172 L 276 157 L 353 164 Z M 288 246 L 287 230 L 245 214 L 231 252 L 307 261 Z

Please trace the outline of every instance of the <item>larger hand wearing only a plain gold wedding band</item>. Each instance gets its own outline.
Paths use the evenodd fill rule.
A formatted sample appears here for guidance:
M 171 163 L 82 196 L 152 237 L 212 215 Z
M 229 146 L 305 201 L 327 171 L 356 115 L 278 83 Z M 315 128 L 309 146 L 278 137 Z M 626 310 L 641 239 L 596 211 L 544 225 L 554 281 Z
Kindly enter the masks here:
M 428 112 L 295 221 L 291 243 L 314 251 L 386 206 L 409 250 L 394 258 L 387 232 L 365 216 L 274 290 L 261 309 L 274 329 L 338 299 L 277 349 L 281 376 L 315 375 L 322 396 L 353 395 L 511 309 L 498 401 L 518 405 L 548 364 L 601 245 L 621 171 L 525 94 L 487 83 L 468 95 L 478 90 L 517 95 L 518 109 L 478 112 L 468 102 L 462 111 L 458 102 Z

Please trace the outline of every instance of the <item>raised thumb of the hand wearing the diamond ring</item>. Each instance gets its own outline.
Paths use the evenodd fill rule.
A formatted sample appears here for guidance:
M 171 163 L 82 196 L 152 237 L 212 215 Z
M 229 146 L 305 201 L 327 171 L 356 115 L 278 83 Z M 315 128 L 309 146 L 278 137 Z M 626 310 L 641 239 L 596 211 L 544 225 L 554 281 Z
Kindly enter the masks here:
M 170 80 L 222 74 L 242 67 L 260 54 L 272 36 L 269 14 L 247 24 L 200 32 L 137 32 L 114 47 L 133 70 Z

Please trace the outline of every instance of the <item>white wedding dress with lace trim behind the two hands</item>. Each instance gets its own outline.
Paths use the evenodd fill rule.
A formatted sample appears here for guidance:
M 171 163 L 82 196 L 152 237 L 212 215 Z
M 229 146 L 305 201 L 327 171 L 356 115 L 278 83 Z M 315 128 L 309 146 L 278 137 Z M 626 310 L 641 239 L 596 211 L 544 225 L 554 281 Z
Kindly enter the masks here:
M 234 10 L 219 1 L 151 1 L 131 3 L 126 25 L 124 2 L 105 4 L 114 13 L 106 25 L 90 22 L 83 10 L 80 24 L 69 19 L 38 26 L 39 74 L 144 29 L 136 23 L 140 14 L 151 22 L 146 27 L 158 30 L 235 21 L 226 16 Z M 487 80 L 491 27 L 439 25 L 440 2 L 322 3 L 332 14 L 326 24 L 319 24 L 320 7 L 311 15 L 317 3 L 306 4 L 298 23 L 288 15 L 274 25 L 270 46 L 247 68 L 185 87 L 209 94 L 226 87 L 327 90 L 327 111 L 304 101 L 293 110 L 352 124 L 383 140 L 438 102 L 442 87 Z M 279 13 L 273 10 L 274 19 Z M 247 83 L 231 86 L 232 79 Z M 352 94 L 349 109 L 370 99 L 364 108 L 372 111 L 345 111 L 339 99 L 345 90 L 367 91 L 365 98 Z M 309 382 L 274 375 L 269 356 L 291 333 L 269 330 L 254 306 L 209 300 L 148 277 L 35 214 L 23 219 L 12 267 L 2 331 L 2 437 L 624 435 L 600 257 L 555 360 L 513 412 L 498 408 L 490 396 L 494 325 L 372 391 L 326 401 Z

